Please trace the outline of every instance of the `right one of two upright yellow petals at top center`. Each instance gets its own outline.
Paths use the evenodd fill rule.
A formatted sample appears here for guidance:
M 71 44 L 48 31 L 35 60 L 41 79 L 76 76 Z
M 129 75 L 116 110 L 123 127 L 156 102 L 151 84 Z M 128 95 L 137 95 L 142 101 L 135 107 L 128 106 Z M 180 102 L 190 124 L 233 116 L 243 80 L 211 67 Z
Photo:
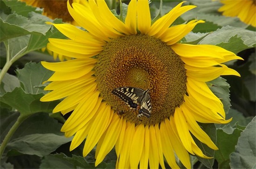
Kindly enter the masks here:
M 151 16 L 147 0 L 138 0 L 137 24 L 142 34 L 147 34 L 151 26 Z

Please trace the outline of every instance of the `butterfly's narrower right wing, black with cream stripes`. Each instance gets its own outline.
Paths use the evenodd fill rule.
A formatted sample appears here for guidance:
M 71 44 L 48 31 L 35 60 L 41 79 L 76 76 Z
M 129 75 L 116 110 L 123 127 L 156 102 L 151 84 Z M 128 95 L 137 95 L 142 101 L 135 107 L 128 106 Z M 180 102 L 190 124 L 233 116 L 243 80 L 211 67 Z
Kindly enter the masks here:
M 142 115 L 146 116 L 147 118 L 150 118 L 150 114 L 151 114 L 151 100 L 150 100 L 150 96 L 149 94 L 145 94 L 141 100 L 140 103 L 141 107 L 139 110 L 139 114 L 138 114 L 138 118 L 141 117 Z

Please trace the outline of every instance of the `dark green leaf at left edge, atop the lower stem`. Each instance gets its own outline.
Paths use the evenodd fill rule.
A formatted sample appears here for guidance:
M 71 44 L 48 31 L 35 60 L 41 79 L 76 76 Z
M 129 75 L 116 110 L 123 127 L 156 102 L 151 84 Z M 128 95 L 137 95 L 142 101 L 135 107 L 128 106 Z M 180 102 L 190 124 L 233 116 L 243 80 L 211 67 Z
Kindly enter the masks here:
M 15 88 L 0 97 L 1 101 L 17 109 L 21 114 L 28 115 L 38 112 L 52 112 L 60 101 L 41 102 L 44 94 L 27 94 L 22 88 Z

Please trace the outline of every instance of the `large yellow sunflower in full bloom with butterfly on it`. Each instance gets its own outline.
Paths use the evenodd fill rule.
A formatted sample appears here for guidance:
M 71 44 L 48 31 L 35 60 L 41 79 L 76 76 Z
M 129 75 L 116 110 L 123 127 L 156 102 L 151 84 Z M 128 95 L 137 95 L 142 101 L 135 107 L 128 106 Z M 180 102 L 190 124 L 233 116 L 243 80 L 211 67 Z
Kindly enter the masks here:
M 175 156 L 186 168 L 189 154 L 210 158 L 192 135 L 217 150 L 197 122 L 225 124 L 231 119 L 225 120 L 222 102 L 206 82 L 220 75 L 240 76 L 222 63 L 242 58 L 218 46 L 180 44 L 204 22 L 172 25 L 196 7 L 182 4 L 152 23 L 148 0 L 131 0 L 124 22 L 104 0 L 67 3 L 87 31 L 53 24 L 69 39 L 50 38 L 47 47 L 75 59 L 42 62 L 54 74 L 45 88 L 51 92 L 41 101 L 64 98 L 53 112 L 73 111 L 61 128 L 66 137 L 74 135 L 70 150 L 86 138 L 83 156 L 97 144 L 95 166 L 115 146 L 117 168 L 148 168 L 149 162 L 152 169 L 159 164 L 165 168 L 164 157 L 172 168 L 179 168 Z M 141 112 L 150 116 L 138 117 Z

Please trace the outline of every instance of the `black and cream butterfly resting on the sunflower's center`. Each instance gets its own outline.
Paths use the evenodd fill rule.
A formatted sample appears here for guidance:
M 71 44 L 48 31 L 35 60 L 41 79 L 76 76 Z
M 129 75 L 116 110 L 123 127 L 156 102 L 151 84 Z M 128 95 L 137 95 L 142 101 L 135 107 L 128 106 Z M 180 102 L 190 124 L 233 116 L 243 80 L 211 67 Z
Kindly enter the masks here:
M 151 114 L 151 100 L 148 94 L 148 90 L 143 90 L 141 88 L 133 87 L 121 87 L 112 90 L 112 93 L 117 95 L 121 100 L 123 100 L 130 109 L 139 109 L 138 118 L 142 115 L 150 118 Z

